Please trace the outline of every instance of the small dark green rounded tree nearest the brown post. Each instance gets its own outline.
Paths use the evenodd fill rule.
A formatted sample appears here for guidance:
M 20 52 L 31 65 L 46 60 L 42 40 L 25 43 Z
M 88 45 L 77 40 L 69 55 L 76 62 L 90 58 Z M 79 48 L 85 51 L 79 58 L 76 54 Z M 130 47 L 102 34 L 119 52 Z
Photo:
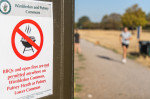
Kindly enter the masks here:
M 90 22 L 91 22 L 91 21 L 90 21 L 89 17 L 83 16 L 83 17 L 81 17 L 81 18 L 79 19 L 79 21 L 78 21 L 78 23 L 77 23 L 77 27 L 78 27 L 78 28 L 84 28 L 84 27 L 86 27 L 85 25 L 86 25 L 86 24 L 89 25 Z

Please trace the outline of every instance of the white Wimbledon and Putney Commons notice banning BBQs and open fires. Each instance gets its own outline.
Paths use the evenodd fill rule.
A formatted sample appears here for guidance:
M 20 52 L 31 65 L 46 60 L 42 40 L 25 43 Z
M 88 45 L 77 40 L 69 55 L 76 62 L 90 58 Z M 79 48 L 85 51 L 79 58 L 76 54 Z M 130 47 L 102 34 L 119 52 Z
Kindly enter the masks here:
M 53 4 L 0 1 L 0 99 L 53 94 Z

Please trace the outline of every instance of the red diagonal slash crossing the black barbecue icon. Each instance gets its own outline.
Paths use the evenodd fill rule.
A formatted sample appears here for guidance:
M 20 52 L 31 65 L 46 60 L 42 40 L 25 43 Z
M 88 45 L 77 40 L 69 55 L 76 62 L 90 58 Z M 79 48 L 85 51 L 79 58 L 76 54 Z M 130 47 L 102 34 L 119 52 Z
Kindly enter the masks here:
M 17 29 L 17 33 L 20 34 L 29 44 L 31 44 L 35 49 L 40 50 L 40 47 L 33 42 L 25 33 L 23 33 L 20 29 Z

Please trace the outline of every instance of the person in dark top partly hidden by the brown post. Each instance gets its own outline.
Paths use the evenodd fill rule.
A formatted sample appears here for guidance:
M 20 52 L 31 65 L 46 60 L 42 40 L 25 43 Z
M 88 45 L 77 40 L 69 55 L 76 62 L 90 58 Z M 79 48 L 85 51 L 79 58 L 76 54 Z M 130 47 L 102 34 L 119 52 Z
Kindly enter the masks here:
M 80 49 L 80 34 L 78 33 L 78 30 L 76 29 L 76 32 L 74 34 L 74 39 L 75 39 L 75 54 L 81 54 L 81 49 Z

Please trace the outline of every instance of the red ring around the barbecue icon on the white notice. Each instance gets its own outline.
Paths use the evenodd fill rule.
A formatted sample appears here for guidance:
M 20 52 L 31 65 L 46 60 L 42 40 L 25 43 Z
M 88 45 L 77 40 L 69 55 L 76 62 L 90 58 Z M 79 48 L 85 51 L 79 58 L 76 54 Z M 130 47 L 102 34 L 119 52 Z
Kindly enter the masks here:
M 23 56 L 21 55 L 17 48 L 16 48 L 16 44 L 15 44 L 15 36 L 17 34 L 17 32 L 21 32 L 21 30 L 19 29 L 20 26 L 22 26 L 23 24 L 26 24 L 26 23 L 30 23 L 30 24 L 33 24 L 34 26 L 36 26 L 36 28 L 38 29 L 39 33 L 40 33 L 40 38 L 41 38 L 41 42 L 40 42 L 40 46 L 36 46 L 36 49 L 37 49 L 37 52 L 35 54 L 33 54 L 32 56 Z M 23 32 L 21 32 L 23 35 L 25 35 Z M 31 41 L 31 40 L 30 40 Z M 32 42 L 32 41 L 31 41 Z M 41 27 L 38 25 L 38 23 L 36 23 L 35 21 L 33 20 L 30 20 L 30 19 L 25 19 L 25 20 L 22 20 L 21 22 L 19 22 L 16 27 L 14 28 L 13 30 L 13 33 L 12 33 L 12 37 L 11 37 L 11 43 L 12 43 L 12 48 L 15 52 L 15 54 L 22 60 L 25 60 L 25 61 L 29 61 L 29 60 L 32 60 L 34 58 L 36 58 L 39 53 L 41 52 L 41 49 L 43 47 L 43 32 L 42 32 L 42 29 Z

